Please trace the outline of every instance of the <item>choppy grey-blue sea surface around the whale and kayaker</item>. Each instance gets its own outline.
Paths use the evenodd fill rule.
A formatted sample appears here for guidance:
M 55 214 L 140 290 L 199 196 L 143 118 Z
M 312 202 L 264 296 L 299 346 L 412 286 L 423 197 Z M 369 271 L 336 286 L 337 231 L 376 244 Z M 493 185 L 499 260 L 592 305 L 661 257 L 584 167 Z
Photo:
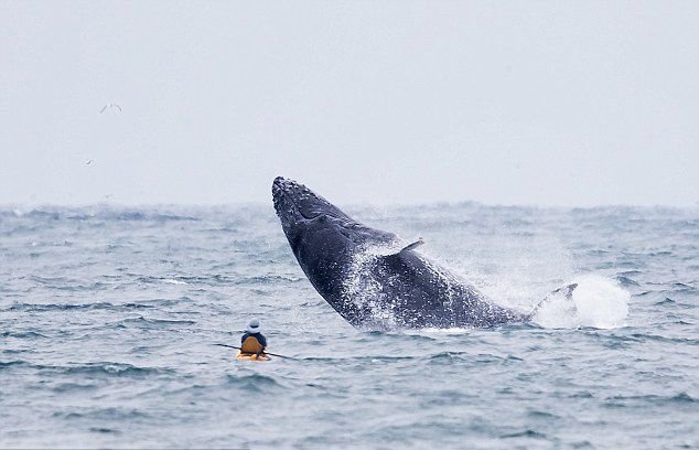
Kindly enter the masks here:
M 356 330 L 271 202 L 4 206 L 0 448 L 699 446 L 699 210 L 346 210 L 502 304 L 579 282 L 577 315 Z M 293 358 L 214 345 L 251 318 Z

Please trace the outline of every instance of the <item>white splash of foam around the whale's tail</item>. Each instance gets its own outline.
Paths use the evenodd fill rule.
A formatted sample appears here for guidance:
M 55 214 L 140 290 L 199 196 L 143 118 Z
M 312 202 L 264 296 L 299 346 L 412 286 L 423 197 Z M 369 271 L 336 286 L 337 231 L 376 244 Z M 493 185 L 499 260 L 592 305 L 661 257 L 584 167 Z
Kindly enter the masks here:
M 535 323 L 555 329 L 624 326 L 631 299 L 627 291 L 596 275 L 576 277 L 571 282 L 578 283 L 572 302 L 562 294 L 548 298 L 534 317 Z

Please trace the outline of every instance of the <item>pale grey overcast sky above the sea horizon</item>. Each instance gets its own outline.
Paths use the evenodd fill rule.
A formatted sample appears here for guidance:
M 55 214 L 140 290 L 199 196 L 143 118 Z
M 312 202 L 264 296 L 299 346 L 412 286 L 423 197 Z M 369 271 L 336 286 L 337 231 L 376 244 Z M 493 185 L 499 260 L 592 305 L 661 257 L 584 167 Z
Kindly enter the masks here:
M 0 156 L 0 204 L 696 205 L 699 2 L 6 0 Z

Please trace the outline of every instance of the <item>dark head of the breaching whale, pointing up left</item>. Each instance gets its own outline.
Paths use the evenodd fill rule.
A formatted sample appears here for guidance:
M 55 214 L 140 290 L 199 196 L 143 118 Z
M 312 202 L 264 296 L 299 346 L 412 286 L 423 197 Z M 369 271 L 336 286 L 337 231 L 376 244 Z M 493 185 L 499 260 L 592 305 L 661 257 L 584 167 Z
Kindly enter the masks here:
M 293 180 L 277 176 L 272 183 L 275 210 L 291 249 L 303 266 L 319 256 L 340 255 L 367 242 L 387 243 L 392 233 L 366 227 L 337 206 Z

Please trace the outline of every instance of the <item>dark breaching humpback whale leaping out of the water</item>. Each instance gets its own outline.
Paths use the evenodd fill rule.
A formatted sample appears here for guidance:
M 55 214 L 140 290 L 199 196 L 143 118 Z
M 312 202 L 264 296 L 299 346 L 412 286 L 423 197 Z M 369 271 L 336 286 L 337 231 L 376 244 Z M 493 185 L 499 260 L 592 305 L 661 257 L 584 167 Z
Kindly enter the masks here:
M 531 317 L 494 303 L 417 253 L 421 239 L 401 245 L 397 235 L 354 221 L 303 184 L 278 176 L 272 200 L 311 285 L 355 326 L 486 328 Z M 561 289 L 570 298 L 574 288 Z

